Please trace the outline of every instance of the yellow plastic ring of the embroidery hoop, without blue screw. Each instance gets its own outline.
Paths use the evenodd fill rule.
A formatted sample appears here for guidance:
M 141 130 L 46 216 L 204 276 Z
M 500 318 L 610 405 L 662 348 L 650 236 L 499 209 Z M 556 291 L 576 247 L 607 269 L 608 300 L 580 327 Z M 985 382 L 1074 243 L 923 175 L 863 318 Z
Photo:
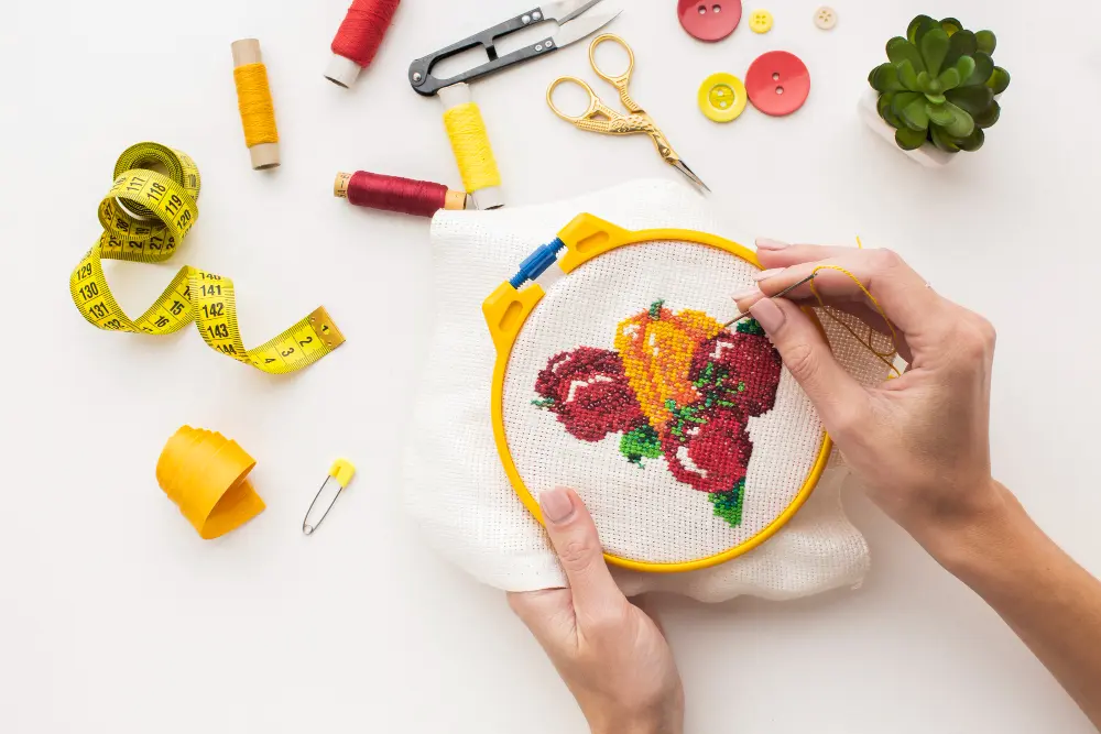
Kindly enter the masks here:
M 633 232 L 587 213 L 579 215 L 565 229 L 558 232 L 558 239 L 565 244 L 565 251 L 558 258 L 556 264 L 566 275 L 569 275 L 590 260 L 619 248 L 657 241 L 678 241 L 708 245 L 729 252 L 746 261 L 754 267 L 761 267 L 761 263 L 751 250 L 715 234 L 683 229 L 652 229 Z M 482 314 L 486 317 L 486 324 L 489 327 L 493 346 L 497 349 L 497 362 L 493 365 L 493 385 L 490 398 L 493 440 L 497 443 L 497 451 L 501 458 L 504 473 L 509 476 L 509 482 L 512 484 L 520 501 L 524 503 L 524 506 L 527 507 L 528 512 L 541 524 L 545 523 L 543 521 L 543 513 L 539 511 L 539 504 L 527 490 L 523 478 L 520 475 L 520 471 L 516 469 L 504 431 L 504 377 L 509 370 L 509 361 L 512 357 L 512 349 L 516 342 L 516 338 L 527 321 L 527 317 L 535 310 L 535 306 L 543 299 L 544 295 L 546 295 L 546 292 L 538 283 L 530 282 L 517 291 L 511 283 L 505 281 L 482 304 Z M 813 314 L 811 318 L 815 318 Z M 821 328 L 820 324 L 818 326 Z M 707 558 L 674 563 L 640 561 L 631 558 L 621 558 L 607 552 L 604 554 L 604 559 L 614 566 L 635 571 L 679 573 L 717 566 L 731 558 L 746 554 L 780 532 L 795 516 L 795 513 L 803 507 L 814 492 L 815 486 L 818 485 L 818 480 L 826 470 L 826 463 L 829 461 L 832 448 L 833 442 L 830 440 L 829 435 L 822 431 L 821 446 L 815 463 L 792 503 L 764 529 L 733 548 L 708 556 Z

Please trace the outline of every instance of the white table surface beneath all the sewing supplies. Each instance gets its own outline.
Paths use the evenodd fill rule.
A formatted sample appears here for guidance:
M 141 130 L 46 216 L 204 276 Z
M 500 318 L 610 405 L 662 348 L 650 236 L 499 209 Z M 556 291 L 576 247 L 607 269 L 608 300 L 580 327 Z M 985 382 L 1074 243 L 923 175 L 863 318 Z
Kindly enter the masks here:
M 743 18 L 717 45 L 682 31 L 674 0 L 629 3 L 613 30 L 639 56 L 634 96 L 715 189 L 723 233 L 860 233 L 995 322 L 996 475 L 1101 572 L 1099 6 L 836 0 L 840 23 L 825 33 L 811 23 L 816 2 L 763 1 L 776 18 L 770 34 Z M 439 108 L 410 90 L 405 69 L 522 8 L 407 0 L 374 66 L 346 91 L 321 77 L 345 7 L 6 8 L 7 733 L 584 728 L 503 595 L 422 548 L 401 512 L 403 434 L 430 349 L 427 221 L 355 210 L 330 193 L 337 171 L 356 168 L 458 187 Z M 985 149 L 942 171 L 911 163 L 855 114 L 883 44 L 920 11 L 994 29 L 996 59 L 1013 74 Z M 277 106 L 274 173 L 249 168 L 238 119 L 229 44 L 249 35 L 262 42 Z M 726 127 L 698 112 L 705 76 L 743 76 L 773 48 L 811 69 L 803 110 L 771 119 L 749 109 Z M 476 87 L 510 205 L 676 176 L 644 139 L 554 118 L 543 95 L 563 73 L 591 78 L 584 43 Z M 190 329 L 154 339 L 85 324 L 66 280 L 100 231 L 96 206 L 116 156 L 142 140 L 196 158 L 201 217 L 172 263 L 108 266 L 123 307 L 140 314 L 189 263 L 235 278 L 249 344 L 324 303 L 344 348 L 275 379 L 219 358 Z M 259 461 L 268 511 L 218 541 L 199 540 L 154 479 L 183 424 L 220 430 Z M 305 538 L 302 515 L 338 456 L 359 475 Z M 690 732 L 1091 731 L 993 612 L 863 499 L 848 506 L 874 554 L 859 591 L 787 604 L 659 600 Z

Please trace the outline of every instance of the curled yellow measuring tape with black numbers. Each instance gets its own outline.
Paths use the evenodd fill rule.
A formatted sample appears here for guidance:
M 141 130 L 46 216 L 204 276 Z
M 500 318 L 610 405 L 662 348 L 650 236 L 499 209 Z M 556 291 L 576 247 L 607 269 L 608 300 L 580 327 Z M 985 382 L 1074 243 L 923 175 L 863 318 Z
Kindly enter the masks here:
M 160 164 L 167 175 L 148 169 Z M 99 205 L 103 234 L 69 278 L 73 302 L 106 331 L 165 335 L 192 321 L 214 350 L 270 374 L 308 366 L 344 343 L 324 307 L 274 339 L 246 349 L 237 326 L 233 282 L 185 265 L 144 314 L 131 320 L 111 295 L 102 260 L 168 260 L 199 216 L 199 169 L 185 153 L 138 143 L 119 156 L 115 185 Z

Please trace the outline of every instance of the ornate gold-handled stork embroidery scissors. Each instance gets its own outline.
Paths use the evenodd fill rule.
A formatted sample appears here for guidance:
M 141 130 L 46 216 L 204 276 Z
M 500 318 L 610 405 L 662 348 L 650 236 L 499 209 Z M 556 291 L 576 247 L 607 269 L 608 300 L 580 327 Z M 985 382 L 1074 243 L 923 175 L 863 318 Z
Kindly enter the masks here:
M 597 46 L 606 41 L 611 41 L 626 51 L 629 59 L 626 72 L 620 74 L 619 76 L 604 74 L 597 64 Z M 710 191 L 711 189 L 707 187 L 707 184 L 700 180 L 699 176 L 694 174 L 691 168 L 688 167 L 688 164 L 682 161 L 680 156 L 677 155 L 677 152 L 673 150 L 673 146 L 669 145 L 668 139 L 665 138 L 665 134 L 654 123 L 654 119 L 646 114 L 645 110 L 643 110 L 639 103 L 631 98 L 631 92 L 628 90 L 628 87 L 631 85 L 631 74 L 634 72 L 634 52 L 631 51 L 631 46 L 626 44 L 626 41 L 613 33 L 604 33 L 603 35 L 597 36 L 592 40 L 592 43 L 589 44 L 589 64 L 592 65 L 592 70 L 597 73 L 597 76 L 615 87 L 620 95 L 620 101 L 623 102 L 623 107 L 628 109 L 630 114 L 617 112 L 608 107 L 602 99 L 597 97 L 597 92 L 592 91 L 592 87 L 574 76 L 558 77 L 552 81 L 550 86 L 547 88 L 547 105 L 550 106 L 554 113 L 567 122 L 573 122 L 575 127 L 581 130 L 588 130 L 589 132 L 599 132 L 604 135 L 633 135 L 645 133 L 650 135 L 651 140 L 654 141 L 654 145 L 657 146 L 657 152 L 662 154 L 662 157 L 666 163 L 683 173 L 688 180 L 698 186 L 700 189 Z M 555 89 L 566 83 L 576 84 L 588 92 L 589 109 L 587 109 L 584 114 L 574 117 L 571 114 L 566 114 L 555 107 Z

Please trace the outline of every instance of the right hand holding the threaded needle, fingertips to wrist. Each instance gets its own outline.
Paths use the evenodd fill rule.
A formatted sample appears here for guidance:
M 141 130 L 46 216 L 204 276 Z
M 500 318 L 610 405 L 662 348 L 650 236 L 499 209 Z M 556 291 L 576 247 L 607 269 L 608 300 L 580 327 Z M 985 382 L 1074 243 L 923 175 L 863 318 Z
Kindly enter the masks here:
M 803 386 L 871 499 L 936 557 L 958 532 L 1003 503 L 990 474 L 990 379 L 994 329 L 937 295 L 889 250 L 786 245 L 757 241 L 759 287 L 734 296 L 753 315 Z M 817 305 L 809 285 L 771 296 L 818 265 L 850 271 L 895 326 L 909 369 L 864 388 L 838 364 L 796 304 Z M 885 330 L 883 318 L 844 274 L 819 271 L 815 286 L 830 305 Z M 794 303 L 793 303 L 794 302 Z

